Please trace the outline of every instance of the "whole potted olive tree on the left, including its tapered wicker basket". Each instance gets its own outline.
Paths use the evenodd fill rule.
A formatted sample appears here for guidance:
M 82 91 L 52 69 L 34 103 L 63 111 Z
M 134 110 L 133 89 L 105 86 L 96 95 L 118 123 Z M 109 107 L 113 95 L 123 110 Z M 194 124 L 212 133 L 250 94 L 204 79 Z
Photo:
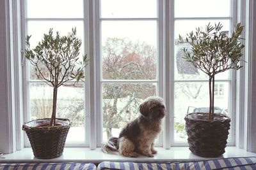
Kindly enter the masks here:
M 67 36 L 60 36 L 59 32 L 54 36 L 50 29 L 33 49 L 30 48 L 30 38 L 26 38 L 25 57 L 35 67 L 37 78 L 52 87 L 52 115 L 51 118 L 27 122 L 22 129 L 28 135 L 35 157 L 52 159 L 62 155 L 70 129 L 70 120 L 56 118 L 58 88 L 65 83 L 70 85 L 70 81 L 75 86 L 82 80 L 88 59 L 87 55 L 83 55 L 83 59 L 79 60 L 81 39 L 76 36 L 76 28 Z

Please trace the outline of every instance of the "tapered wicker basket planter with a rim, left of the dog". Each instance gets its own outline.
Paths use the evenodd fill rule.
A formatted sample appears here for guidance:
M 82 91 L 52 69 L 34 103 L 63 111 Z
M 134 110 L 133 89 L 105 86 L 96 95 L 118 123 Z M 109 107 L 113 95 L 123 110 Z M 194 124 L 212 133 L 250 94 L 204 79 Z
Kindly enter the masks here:
M 22 129 L 26 132 L 34 156 L 38 159 L 53 159 L 60 157 L 70 129 L 70 120 L 56 118 L 56 124 L 47 127 L 50 118 L 32 120 L 25 123 Z

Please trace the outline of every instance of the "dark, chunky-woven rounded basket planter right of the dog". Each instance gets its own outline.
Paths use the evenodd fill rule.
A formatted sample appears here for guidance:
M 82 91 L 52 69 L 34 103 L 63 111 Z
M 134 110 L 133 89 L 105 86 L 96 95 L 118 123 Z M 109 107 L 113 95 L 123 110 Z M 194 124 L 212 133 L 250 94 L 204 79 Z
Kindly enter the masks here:
M 209 121 L 209 113 L 189 113 L 186 115 L 186 132 L 189 150 L 201 157 L 218 157 L 225 153 L 230 118 L 214 114 Z

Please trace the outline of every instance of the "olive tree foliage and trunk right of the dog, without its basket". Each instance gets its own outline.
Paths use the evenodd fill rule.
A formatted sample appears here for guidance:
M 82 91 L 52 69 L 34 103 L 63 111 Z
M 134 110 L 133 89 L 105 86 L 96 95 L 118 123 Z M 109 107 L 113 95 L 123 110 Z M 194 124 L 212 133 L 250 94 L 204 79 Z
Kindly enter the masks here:
M 184 58 L 193 64 L 196 68 L 209 76 L 209 120 L 214 119 L 214 76 L 228 69 L 240 69 L 242 49 L 240 35 L 243 32 L 243 26 L 237 24 L 228 37 L 221 32 L 223 27 L 220 22 L 211 25 L 209 23 L 205 29 L 196 28 L 196 32 L 190 32 L 186 39 L 179 35 L 180 43 L 189 43 L 191 49 L 183 48 Z

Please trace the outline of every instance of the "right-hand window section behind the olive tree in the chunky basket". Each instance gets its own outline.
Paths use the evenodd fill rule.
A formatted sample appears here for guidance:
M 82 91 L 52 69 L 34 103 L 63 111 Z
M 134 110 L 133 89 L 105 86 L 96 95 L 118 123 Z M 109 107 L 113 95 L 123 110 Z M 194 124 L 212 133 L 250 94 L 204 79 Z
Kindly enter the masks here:
M 211 4 L 211 8 L 209 8 Z M 221 4 L 221 5 L 220 5 Z M 216 10 L 218 9 L 218 10 Z M 187 33 L 194 31 L 196 27 L 204 27 L 211 24 L 223 24 L 222 30 L 230 32 L 233 26 L 232 1 L 230 0 L 175 0 L 174 1 L 174 132 L 173 145 L 186 145 L 187 136 L 184 130 L 184 117 L 189 108 L 196 110 L 209 110 L 208 76 L 202 71 L 191 66 L 182 58 L 181 48 L 189 48 L 188 44 L 179 43 L 179 35 L 186 37 Z M 171 52 L 172 53 L 172 52 Z M 232 117 L 231 87 L 234 84 L 232 71 L 226 71 L 216 75 L 216 90 L 218 99 L 214 106 L 220 110 L 227 110 Z M 223 95 L 225 85 L 225 95 Z M 216 91 L 216 93 L 217 93 Z M 221 96 L 221 97 L 220 97 Z M 216 111 L 215 111 L 216 112 Z M 227 113 L 227 112 L 226 112 Z M 234 136 L 233 136 L 234 138 Z M 229 138 L 231 142 L 232 138 Z

